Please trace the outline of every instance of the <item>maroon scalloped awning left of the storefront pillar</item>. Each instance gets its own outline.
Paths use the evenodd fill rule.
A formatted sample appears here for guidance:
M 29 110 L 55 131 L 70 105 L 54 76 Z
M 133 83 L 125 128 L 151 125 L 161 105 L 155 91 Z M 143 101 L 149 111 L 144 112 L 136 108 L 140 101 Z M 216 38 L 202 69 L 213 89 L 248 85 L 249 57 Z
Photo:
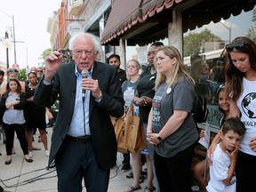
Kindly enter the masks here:
M 107 24 L 101 36 L 101 43 L 107 44 L 116 36 L 121 36 L 126 30 L 138 22 L 144 22 L 156 12 L 172 7 L 182 0 L 116 0 L 109 14 Z

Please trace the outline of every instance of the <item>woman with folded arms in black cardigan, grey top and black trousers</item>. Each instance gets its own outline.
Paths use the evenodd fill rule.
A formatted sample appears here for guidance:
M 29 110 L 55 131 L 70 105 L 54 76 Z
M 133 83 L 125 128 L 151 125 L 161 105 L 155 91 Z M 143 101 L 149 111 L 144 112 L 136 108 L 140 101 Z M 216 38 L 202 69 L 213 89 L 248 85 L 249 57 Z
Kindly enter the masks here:
M 21 85 L 17 79 L 9 79 L 6 85 L 6 92 L 1 99 L 1 110 L 4 111 L 3 125 L 6 134 L 6 154 L 5 164 L 12 163 L 12 146 L 14 133 L 16 132 L 20 147 L 22 148 L 25 160 L 28 163 L 33 160 L 28 156 L 28 143 L 26 140 L 26 127 L 23 108 L 26 105 L 26 95 L 21 92 Z

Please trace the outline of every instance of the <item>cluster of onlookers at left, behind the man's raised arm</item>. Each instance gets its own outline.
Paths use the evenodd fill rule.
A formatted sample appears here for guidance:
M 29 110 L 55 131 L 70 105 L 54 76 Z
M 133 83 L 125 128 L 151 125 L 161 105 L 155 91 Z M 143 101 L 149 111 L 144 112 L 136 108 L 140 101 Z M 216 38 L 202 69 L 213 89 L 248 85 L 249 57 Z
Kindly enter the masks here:
M 32 145 L 35 140 L 33 135 L 37 128 L 40 132 L 38 142 L 43 142 L 45 156 L 49 156 L 45 108 L 36 107 L 33 101 L 36 86 L 43 76 L 43 68 L 29 68 L 26 82 L 18 80 L 19 70 L 17 68 L 8 68 L 6 75 L 5 80 L 4 71 L 0 70 L 0 140 L 3 140 L 5 144 L 6 161 L 4 164 L 12 164 L 12 155 L 16 154 L 15 134 L 20 141 L 24 159 L 32 163 L 32 151 L 41 150 Z

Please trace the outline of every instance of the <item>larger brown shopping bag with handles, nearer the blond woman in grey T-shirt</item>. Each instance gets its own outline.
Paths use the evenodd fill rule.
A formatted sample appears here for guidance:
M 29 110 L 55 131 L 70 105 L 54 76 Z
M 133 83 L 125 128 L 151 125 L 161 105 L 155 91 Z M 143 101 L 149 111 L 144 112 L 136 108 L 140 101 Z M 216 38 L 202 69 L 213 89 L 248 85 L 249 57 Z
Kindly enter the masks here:
M 140 123 L 140 116 L 134 115 L 133 102 L 128 108 L 128 114 L 124 121 L 124 143 L 126 148 L 132 153 L 140 153 L 140 151 L 147 148 L 147 142 Z

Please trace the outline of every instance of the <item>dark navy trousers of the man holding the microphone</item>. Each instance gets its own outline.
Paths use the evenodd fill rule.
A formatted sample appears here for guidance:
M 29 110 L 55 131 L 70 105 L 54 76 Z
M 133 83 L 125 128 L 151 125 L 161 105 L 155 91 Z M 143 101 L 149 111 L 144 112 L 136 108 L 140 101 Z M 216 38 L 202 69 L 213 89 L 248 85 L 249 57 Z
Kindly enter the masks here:
M 87 192 L 108 191 L 110 169 L 100 169 L 92 142 L 78 143 L 65 139 L 55 164 L 59 192 L 81 192 L 83 179 Z

